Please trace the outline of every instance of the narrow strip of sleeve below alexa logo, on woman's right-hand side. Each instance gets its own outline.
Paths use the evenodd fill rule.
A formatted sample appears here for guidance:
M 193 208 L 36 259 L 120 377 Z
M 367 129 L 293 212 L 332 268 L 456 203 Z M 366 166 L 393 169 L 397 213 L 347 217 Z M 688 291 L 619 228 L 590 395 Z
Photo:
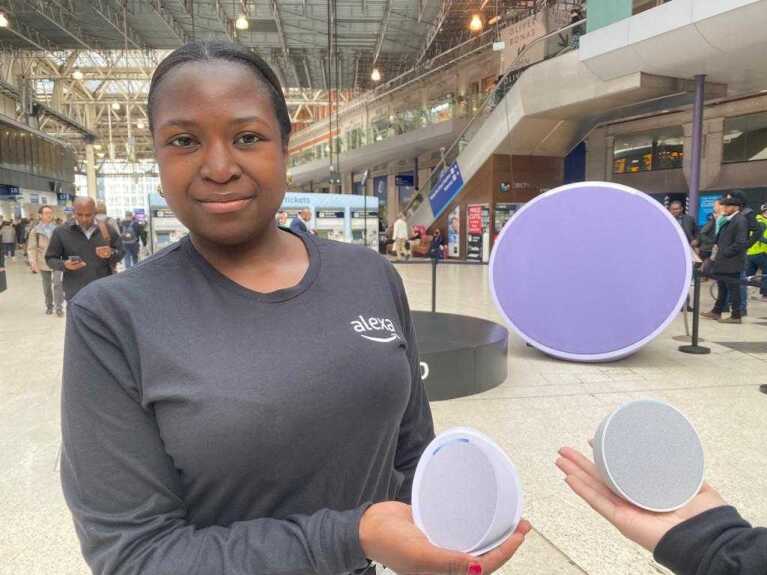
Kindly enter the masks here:
M 413 477 L 418 461 L 421 459 L 426 446 L 434 439 L 434 423 L 431 417 L 429 400 L 426 397 L 423 381 L 421 380 L 421 362 L 418 357 L 418 342 L 416 341 L 415 327 L 410 315 L 405 287 L 394 266 L 386 263 L 387 270 L 400 316 L 401 325 L 405 331 L 407 341 L 407 353 L 410 361 L 410 401 L 400 423 L 399 439 L 397 440 L 397 454 L 394 459 L 394 467 L 403 474 L 404 481 L 400 487 L 397 499 L 410 504 Z

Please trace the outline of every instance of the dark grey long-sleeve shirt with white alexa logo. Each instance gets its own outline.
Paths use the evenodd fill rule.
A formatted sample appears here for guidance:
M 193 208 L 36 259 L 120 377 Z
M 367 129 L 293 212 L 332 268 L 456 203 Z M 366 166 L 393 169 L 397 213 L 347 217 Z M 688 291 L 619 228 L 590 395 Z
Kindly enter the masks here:
M 351 572 L 368 504 L 409 501 L 434 433 L 402 283 L 300 237 L 289 289 L 245 289 L 185 238 L 72 302 L 61 474 L 94 573 Z

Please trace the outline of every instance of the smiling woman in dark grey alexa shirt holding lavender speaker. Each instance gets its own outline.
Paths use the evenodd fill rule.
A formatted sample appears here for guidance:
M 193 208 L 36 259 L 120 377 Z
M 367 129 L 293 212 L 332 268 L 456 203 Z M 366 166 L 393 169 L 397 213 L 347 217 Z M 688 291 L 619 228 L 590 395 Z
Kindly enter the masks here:
M 188 44 L 148 109 L 190 234 L 68 309 L 62 482 L 93 571 L 497 569 L 529 524 L 472 558 L 431 546 L 406 504 L 433 431 L 396 272 L 276 225 L 290 118 L 273 72 Z

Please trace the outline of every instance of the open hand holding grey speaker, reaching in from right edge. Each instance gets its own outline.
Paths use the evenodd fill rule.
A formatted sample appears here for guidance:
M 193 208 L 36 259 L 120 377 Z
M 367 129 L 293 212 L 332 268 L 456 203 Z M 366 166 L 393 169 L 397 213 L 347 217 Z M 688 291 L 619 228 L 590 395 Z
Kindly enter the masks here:
M 645 511 L 615 495 L 602 481 L 596 466 L 582 453 L 563 447 L 559 455 L 557 467 L 567 476 L 565 482 L 570 489 L 612 523 L 624 537 L 651 552 L 672 527 L 709 509 L 727 505 L 711 486 L 704 483 L 693 500 L 681 509 L 671 513 Z

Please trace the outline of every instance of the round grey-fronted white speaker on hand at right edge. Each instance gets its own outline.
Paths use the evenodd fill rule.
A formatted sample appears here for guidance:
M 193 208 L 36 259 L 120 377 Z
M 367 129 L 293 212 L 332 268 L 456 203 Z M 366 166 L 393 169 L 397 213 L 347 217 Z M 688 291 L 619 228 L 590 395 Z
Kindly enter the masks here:
M 643 399 L 612 412 L 593 441 L 594 462 L 619 497 L 648 511 L 684 507 L 703 485 L 703 446 L 677 409 Z

